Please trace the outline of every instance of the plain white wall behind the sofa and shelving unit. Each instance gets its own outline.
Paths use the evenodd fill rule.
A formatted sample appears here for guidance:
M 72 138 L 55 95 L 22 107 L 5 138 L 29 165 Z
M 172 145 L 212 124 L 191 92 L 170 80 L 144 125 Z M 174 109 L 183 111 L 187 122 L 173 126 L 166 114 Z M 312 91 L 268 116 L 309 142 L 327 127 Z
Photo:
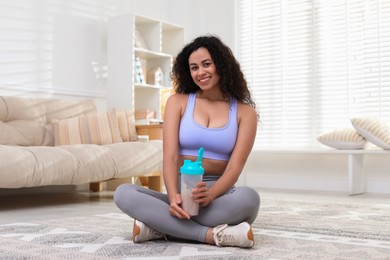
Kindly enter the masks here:
M 234 0 L 0 0 L 0 95 L 92 98 L 104 109 L 107 21 L 132 12 L 234 49 Z

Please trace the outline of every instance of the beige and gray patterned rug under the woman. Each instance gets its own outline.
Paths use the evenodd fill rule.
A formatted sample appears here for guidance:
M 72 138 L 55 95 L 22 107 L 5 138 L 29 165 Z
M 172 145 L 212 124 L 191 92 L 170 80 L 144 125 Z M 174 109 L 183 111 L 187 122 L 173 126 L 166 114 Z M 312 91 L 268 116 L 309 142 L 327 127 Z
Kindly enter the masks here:
M 390 259 L 390 204 L 262 201 L 252 249 L 134 244 L 118 212 L 0 225 L 0 259 Z

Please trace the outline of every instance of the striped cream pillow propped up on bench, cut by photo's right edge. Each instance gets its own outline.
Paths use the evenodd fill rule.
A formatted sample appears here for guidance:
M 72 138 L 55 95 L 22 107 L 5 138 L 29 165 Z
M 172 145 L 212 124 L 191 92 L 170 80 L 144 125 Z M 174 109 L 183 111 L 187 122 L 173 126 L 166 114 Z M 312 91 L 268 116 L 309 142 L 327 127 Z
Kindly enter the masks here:
M 375 117 L 352 118 L 351 123 L 368 141 L 383 149 L 390 149 L 389 123 Z

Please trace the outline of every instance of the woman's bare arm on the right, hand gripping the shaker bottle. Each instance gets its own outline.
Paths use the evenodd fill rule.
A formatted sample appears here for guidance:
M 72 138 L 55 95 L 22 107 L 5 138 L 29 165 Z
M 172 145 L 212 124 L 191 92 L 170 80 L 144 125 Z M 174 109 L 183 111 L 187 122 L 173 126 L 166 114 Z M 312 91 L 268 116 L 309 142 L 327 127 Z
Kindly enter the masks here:
M 257 113 L 251 106 L 238 103 L 238 133 L 236 145 L 230 156 L 226 169 L 219 180 L 210 188 L 203 185 L 195 197 L 201 206 L 207 206 L 211 201 L 228 191 L 238 180 L 242 169 L 252 150 L 257 131 Z M 202 190 L 202 191 L 201 191 Z M 196 193 L 195 192 L 195 193 Z

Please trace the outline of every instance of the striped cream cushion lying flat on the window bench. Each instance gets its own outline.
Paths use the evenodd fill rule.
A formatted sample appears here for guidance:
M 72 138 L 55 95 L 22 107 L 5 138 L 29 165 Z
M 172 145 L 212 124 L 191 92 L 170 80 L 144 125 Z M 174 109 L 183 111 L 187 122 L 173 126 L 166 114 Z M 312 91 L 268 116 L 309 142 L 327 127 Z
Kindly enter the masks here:
M 317 140 L 336 149 L 363 149 L 367 140 L 355 129 L 340 129 L 320 135 Z

